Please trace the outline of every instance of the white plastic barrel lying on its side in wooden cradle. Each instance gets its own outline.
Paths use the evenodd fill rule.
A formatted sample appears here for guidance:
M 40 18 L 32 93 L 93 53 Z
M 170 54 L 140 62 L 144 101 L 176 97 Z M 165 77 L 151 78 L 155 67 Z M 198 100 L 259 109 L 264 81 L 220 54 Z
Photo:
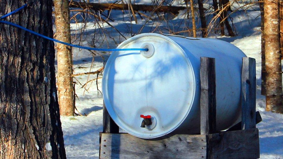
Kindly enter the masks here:
M 200 132 L 200 57 L 215 58 L 217 131 L 241 116 L 241 66 L 246 55 L 225 41 L 145 33 L 117 48 L 109 57 L 102 79 L 106 109 L 115 123 L 139 138 Z M 152 124 L 141 127 L 150 115 Z

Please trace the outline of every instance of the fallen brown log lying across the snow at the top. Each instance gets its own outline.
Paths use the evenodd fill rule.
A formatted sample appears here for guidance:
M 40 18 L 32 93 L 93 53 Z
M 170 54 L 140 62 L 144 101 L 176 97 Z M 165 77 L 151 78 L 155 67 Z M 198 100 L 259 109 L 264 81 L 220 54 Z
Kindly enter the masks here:
M 90 8 L 92 10 L 125 10 L 128 8 L 128 4 L 114 4 L 114 3 L 84 3 L 69 1 L 70 8 Z M 156 6 L 144 5 L 144 4 L 132 4 L 134 11 L 152 12 Z M 172 12 L 178 14 L 180 10 L 184 10 L 186 7 L 180 6 L 160 6 L 156 12 Z

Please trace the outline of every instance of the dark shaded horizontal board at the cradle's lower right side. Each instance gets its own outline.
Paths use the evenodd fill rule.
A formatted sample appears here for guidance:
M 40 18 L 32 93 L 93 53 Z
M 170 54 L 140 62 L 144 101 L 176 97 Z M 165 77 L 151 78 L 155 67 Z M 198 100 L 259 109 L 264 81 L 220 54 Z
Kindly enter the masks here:
M 209 134 L 210 158 L 260 158 L 258 129 Z

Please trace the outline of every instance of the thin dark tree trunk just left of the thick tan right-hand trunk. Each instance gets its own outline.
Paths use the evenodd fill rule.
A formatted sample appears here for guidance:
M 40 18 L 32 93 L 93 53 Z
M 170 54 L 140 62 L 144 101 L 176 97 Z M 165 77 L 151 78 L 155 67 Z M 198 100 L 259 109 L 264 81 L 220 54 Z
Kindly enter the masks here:
M 258 0 L 260 1 L 260 0 Z M 264 39 L 264 3 L 259 2 L 260 5 L 260 26 L 261 26 L 261 94 L 265 95 L 265 39 Z

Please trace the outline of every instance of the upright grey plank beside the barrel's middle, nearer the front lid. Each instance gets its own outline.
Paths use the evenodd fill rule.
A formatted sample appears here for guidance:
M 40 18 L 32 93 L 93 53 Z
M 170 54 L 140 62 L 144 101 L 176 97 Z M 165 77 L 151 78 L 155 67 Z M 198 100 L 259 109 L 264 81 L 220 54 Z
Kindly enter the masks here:
M 215 59 L 200 58 L 200 134 L 216 132 Z

